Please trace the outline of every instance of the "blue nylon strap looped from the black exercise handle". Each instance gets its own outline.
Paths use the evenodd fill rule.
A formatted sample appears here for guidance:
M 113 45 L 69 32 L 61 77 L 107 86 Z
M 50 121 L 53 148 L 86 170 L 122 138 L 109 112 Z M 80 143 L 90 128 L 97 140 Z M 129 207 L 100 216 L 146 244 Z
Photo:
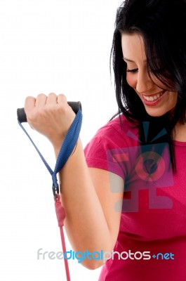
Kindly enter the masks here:
M 20 125 L 22 130 L 25 131 L 27 137 L 29 138 L 29 141 L 31 141 L 32 145 L 34 145 L 34 148 L 36 149 L 39 156 L 41 157 L 41 160 L 44 162 L 46 168 L 48 169 L 49 173 L 51 174 L 52 181 L 53 181 L 53 190 L 55 190 L 55 191 L 53 191 L 53 194 L 55 195 L 56 191 L 59 192 L 57 174 L 60 171 L 60 169 L 62 169 L 62 167 L 67 162 L 67 159 L 69 158 L 72 151 L 74 150 L 74 147 L 75 147 L 75 145 L 77 143 L 77 140 L 79 138 L 79 133 L 81 131 L 81 124 L 82 124 L 82 112 L 81 112 L 81 110 L 79 109 L 76 117 L 74 118 L 74 121 L 72 122 L 71 126 L 69 127 L 69 130 L 67 131 L 67 135 L 65 136 L 65 140 L 62 143 L 58 158 L 56 160 L 54 171 L 48 165 L 48 163 L 46 162 L 46 159 L 44 159 L 43 155 L 41 155 L 41 152 L 36 147 L 34 141 L 32 141 L 32 138 L 30 138 L 29 134 L 25 130 L 24 126 L 22 126 L 22 124 L 19 122 L 19 120 L 18 120 L 18 124 Z

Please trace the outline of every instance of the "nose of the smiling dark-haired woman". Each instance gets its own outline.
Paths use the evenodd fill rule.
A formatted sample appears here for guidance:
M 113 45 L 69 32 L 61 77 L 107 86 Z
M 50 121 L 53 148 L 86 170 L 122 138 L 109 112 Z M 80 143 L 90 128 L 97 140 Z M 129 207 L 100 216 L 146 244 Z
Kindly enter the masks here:
M 147 72 L 147 69 L 145 70 L 138 70 L 138 77 L 136 81 L 136 91 L 138 93 L 145 93 L 152 89 L 152 86 L 154 85 L 154 82 L 152 79 L 150 79 L 150 75 Z

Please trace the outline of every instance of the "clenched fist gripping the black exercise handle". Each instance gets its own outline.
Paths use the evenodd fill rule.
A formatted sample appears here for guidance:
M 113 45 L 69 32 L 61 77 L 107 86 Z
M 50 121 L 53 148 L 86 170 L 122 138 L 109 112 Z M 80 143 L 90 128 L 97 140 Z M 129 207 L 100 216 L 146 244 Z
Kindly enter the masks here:
M 41 93 L 37 98 L 28 96 L 25 100 L 25 113 L 32 129 L 46 136 L 57 149 L 76 116 L 65 95 L 57 96 L 55 93 L 48 96 Z

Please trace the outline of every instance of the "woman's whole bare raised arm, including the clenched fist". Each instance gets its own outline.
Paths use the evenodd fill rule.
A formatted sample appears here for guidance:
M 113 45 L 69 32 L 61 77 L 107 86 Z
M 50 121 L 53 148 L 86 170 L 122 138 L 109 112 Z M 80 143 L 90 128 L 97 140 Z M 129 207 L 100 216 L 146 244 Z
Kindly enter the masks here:
M 43 133 L 53 144 L 55 155 L 58 155 L 61 143 L 65 137 L 70 124 L 68 120 L 72 115 L 70 110 L 65 109 L 58 115 L 54 100 L 48 101 L 50 106 L 44 103 L 44 96 L 41 100 L 28 98 L 25 103 L 25 111 L 29 124 L 37 131 Z M 56 96 L 51 95 L 51 99 Z M 64 99 L 64 97 L 62 97 Z M 30 101 L 29 101 L 30 100 Z M 63 100 L 65 103 L 65 101 Z M 51 105 L 53 104 L 53 106 Z M 63 104 L 63 103 L 62 103 Z M 32 105 L 32 107 L 29 107 Z M 33 106 L 34 105 L 34 106 Z M 45 108 L 44 108 L 45 107 Z M 62 105 L 61 105 L 62 107 Z M 69 112 L 68 112 L 69 110 Z M 62 112 L 62 113 L 61 113 Z M 49 115 L 49 117 L 47 117 Z M 65 121 L 65 115 L 66 121 Z M 58 121 L 60 119 L 60 122 Z M 70 121 L 72 123 L 72 120 Z M 66 122 L 66 124 L 62 124 Z M 70 123 L 69 122 L 69 123 Z M 49 128 L 48 128 L 49 123 Z M 77 147 L 67 160 L 67 163 L 59 173 L 60 190 L 62 203 L 65 207 L 65 229 L 74 251 L 112 251 L 119 232 L 121 211 L 115 211 L 114 204 L 122 200 L 123 192 L 113 193 L 109 181 L 109 172 L 102 169 L 88 168 L 84 157 L 84 150 L 79 140 Z M 112 184 L 120 185 L 123 189 L 124 182 L 115 177 Z M 87 268 L 97 268 L 102 261 L 85 260 L 82 263 Z

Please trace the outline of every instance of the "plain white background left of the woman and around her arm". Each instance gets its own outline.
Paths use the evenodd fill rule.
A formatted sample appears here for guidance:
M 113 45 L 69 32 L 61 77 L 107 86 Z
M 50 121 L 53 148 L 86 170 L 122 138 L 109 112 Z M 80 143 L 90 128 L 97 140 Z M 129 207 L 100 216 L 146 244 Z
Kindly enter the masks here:
M 115 112 L 109 53 L 116 0 L 0 1 L 0 280 L 65 280 L 51 175 L 17 122 L 26 96 L 65 93 L 83 107 L 84 146 Z M 51 144 L 24 124 L 53 169 Z M 95 210 L 96 211 L 96 210 Z M 83 218 L 82 218 L 83 219 Z M 65 235 L 66 237 L 66 235 Z M 72 249 L 66 237 L 67 249 Z M 98 280 L 98 270 L 69 261 L 72 281 Z

